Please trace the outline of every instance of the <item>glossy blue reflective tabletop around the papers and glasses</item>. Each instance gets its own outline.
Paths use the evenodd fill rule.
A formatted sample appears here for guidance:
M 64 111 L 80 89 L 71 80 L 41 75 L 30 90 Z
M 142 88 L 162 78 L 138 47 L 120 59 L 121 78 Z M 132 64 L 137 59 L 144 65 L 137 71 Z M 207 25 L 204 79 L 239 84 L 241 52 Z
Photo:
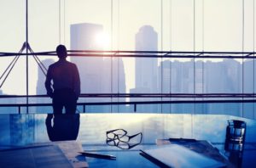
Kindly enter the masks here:
M 55 122 L 57 125 L 60 122 L 58 130 L 62 129 L 70 135 L 71 125 L 66 119 L 53 121 L 49 118 L 47 114 L 0 115 L 0 148 L 50 142 L 49 139 L 55 137 L 49 135 L 47 123 Z M 155 148 L 156 139 L 182 137 L 207 140 L 227 155 L 224 149 L 227 120 L 243 120 L 247 125 L 241 165 L 238 166 L 256 165 L 256 120 L 231 115 L 80 114 L 72 121 L 76 122 L 72 129 L 77 130 L 74 134 L 78 134 L 77 140 L 86 152 L 116 156 L 116 160 L 87 157 L 90 167 L 158 167 L 139 154 L 141 149 Z M 106 143 L 106 132 L 114 129 L 124 129 L 127 135 L 142 132 L 142 142 L 130 149 L 109 146 Z M 229 156 L 226 157 L 229 159 Z

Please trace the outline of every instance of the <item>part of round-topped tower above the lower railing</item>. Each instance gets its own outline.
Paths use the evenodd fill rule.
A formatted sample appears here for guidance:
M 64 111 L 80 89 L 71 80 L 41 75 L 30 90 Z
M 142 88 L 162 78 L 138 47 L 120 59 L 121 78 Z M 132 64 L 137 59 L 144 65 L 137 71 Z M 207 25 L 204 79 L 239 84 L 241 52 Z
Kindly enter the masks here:
M 157 51 L 157 33 L 150 25 L 144 25 L 136 34 L 137 51 Z M 136 58 L 136 88 L 157 92 L 157 59 Z

